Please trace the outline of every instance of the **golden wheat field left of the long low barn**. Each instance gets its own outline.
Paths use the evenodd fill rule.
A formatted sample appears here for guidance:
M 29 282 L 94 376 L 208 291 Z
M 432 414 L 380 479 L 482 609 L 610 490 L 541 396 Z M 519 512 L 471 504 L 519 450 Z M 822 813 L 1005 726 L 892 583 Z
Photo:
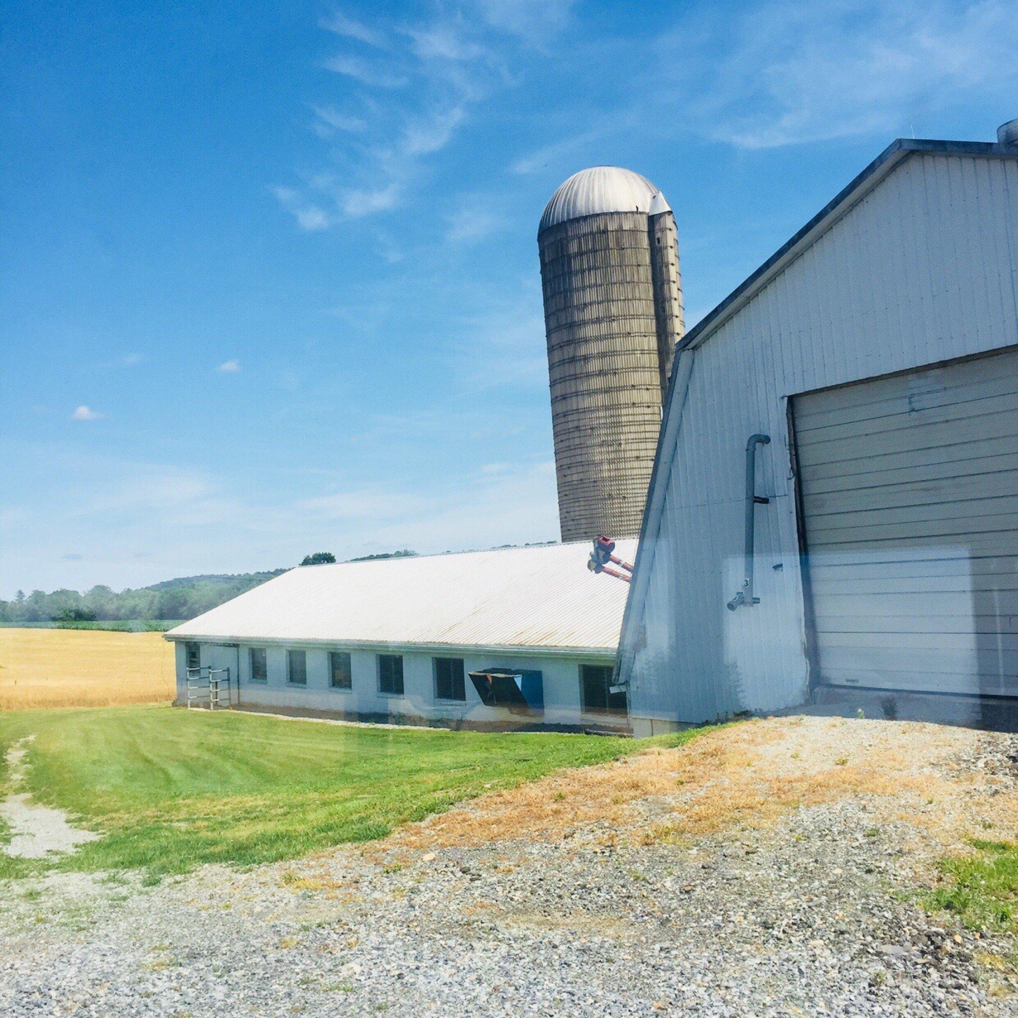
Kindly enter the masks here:
M 0 711 L 166 702 L 173 644 L 162 633 L 0 629 Z

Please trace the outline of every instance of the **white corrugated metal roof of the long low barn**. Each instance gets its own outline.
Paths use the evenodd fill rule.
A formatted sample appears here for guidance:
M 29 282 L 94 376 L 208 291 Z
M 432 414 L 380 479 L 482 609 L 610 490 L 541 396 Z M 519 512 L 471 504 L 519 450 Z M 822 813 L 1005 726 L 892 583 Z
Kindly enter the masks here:
M 291 569 L 170 639 L 414 644 L 614 654 L 629 584 L 588 542 Z M 635 540 L 618 554 L 631 562 Z

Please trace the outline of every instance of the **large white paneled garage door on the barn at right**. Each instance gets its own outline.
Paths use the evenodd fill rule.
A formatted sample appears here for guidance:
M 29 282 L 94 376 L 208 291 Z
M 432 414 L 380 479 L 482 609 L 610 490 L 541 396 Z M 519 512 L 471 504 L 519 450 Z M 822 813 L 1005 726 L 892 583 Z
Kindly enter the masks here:
M 821 681 L 1018 695 L 1018 348 L 793 411 Z

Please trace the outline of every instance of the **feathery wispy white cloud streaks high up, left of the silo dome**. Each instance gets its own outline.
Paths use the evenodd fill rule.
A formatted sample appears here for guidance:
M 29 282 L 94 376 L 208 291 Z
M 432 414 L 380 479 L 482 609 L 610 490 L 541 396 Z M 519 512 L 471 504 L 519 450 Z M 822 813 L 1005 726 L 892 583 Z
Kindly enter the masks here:
M 348 86 L 341 102 L 313 105 L 312 130 L 330 147 L 329 170 L 302 173 L 300 183 L 272 192 L 307 231 L 400 208 L 478 104 L 513 83 L 507 52 L 548 38 L 570 6 L 511 0 L 503 9 L 461 0 L 384 27 L 341 12 L 323 19 L 343 42 L 324 66 L 359 88 Z

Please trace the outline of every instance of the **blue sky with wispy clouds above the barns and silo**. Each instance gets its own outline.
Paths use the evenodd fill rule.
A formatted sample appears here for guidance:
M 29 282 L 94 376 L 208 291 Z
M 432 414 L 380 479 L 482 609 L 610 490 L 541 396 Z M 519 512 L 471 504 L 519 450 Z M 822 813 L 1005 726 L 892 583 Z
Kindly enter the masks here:
M 1018 116 L 1018 0 L 3 8 L 0 597 L 557 538 L 566 176 L 665 191 L 692 324 Z

